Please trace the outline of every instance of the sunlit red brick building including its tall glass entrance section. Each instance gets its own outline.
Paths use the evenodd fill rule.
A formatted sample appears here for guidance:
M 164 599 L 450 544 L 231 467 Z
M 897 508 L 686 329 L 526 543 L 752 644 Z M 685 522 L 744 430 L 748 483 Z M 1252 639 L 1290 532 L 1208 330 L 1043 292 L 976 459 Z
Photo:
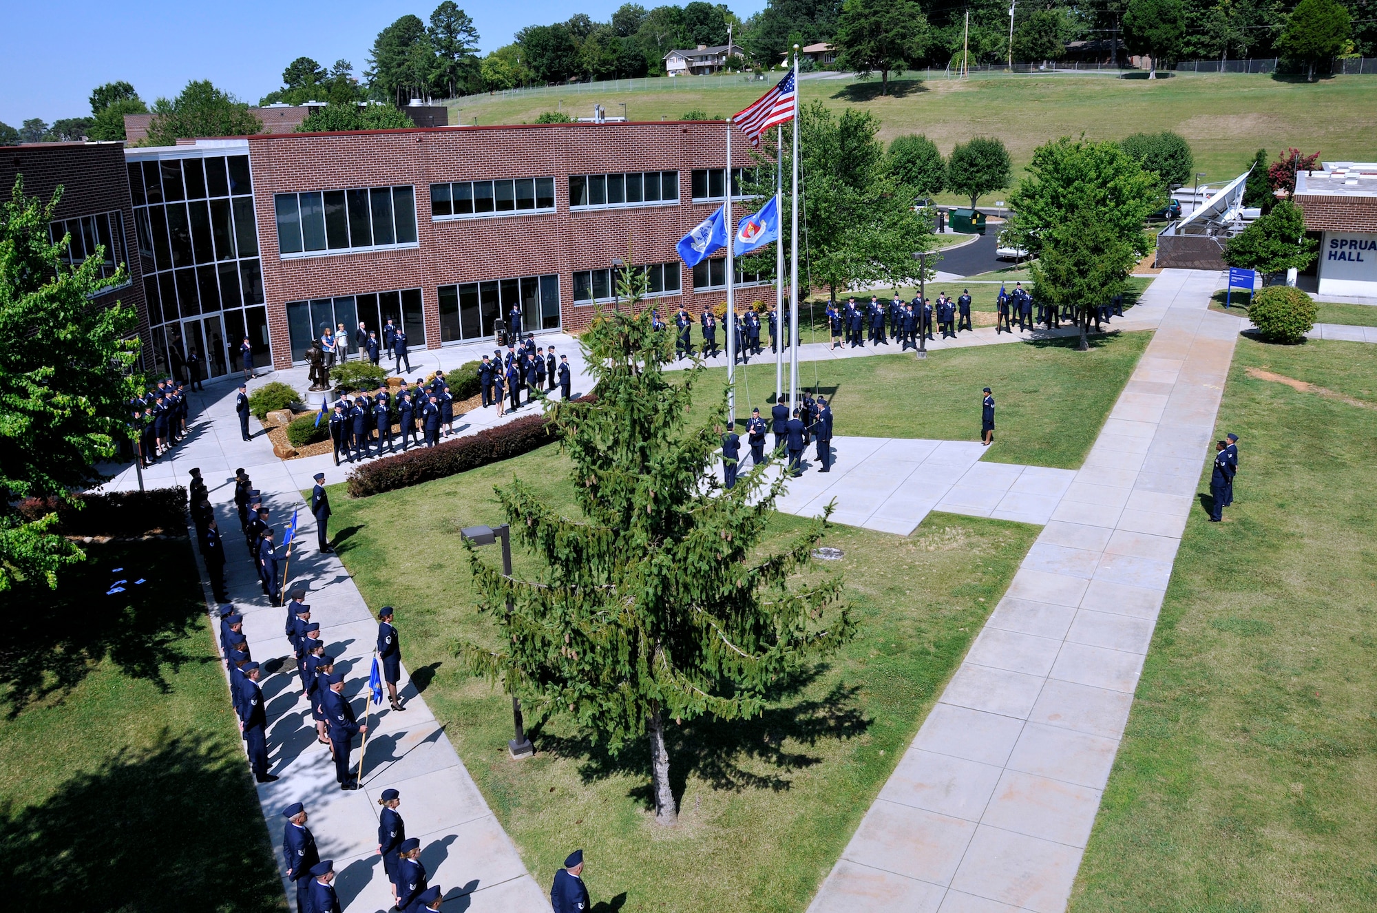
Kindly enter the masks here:
M 244 336 L 259 366 L 285 368 L 326 324 L 388 318 L 413 348 L 492 337 L 512 308 L 525 330 L 577 332 L 595 304 L 616 306 L 628 252 L 647 271 L 646 306 L 697 315 L 724 297 L 724 260 L 683 269 L 675 245 L 724 200 L 723 129 L 450 127 L 128 149 L 149 368 L 176 369 L 196 346 L 220 376 Z M 742 289 L 748 303 L 768 295 Z

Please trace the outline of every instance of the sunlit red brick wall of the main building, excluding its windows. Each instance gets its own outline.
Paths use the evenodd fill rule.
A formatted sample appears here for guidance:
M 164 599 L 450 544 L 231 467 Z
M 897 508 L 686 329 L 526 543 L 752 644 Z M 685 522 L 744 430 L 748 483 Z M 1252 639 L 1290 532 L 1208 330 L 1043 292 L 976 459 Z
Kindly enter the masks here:
M 733 164 L 750 165 L 749 149 L 735 134 Z M 627 258 L 628 245 L 636 263 L 676 262 L 679 238 L 715 208 L 690 202 L 691 171 L 724 167 L 726 136 L 720 123 L 691 121 L 291 134 L 249 138 L 249 160 L 274 364 L 285 368 L 285 304 L 308 297 L 420 288 L 425 342 L 438 347 L 438 286 L 558 273 L 563 328 L 582 329 L 593 307 L 574 306 L 573 273 L 607 269 L 613 258 Z M 620 171 L 679 171 L 679 205 L 570 212 L 570 174 Z M 555 178 L 552 213 L 431 222 L 431 183 L 537 176 Z M 278 256 L 273 194 L 387 185 L 416 187 L 416 249 Z M 744 215 L 737 207 L 737 218 Z M 726 297 L 722 289 L 695 293 L 693 271 L 680 274 L 682 295 L 646 306 L 668 318 L 683 303 L 697 315 Z M 746 303 L 772 296 L 772 288 L 741 295 Z

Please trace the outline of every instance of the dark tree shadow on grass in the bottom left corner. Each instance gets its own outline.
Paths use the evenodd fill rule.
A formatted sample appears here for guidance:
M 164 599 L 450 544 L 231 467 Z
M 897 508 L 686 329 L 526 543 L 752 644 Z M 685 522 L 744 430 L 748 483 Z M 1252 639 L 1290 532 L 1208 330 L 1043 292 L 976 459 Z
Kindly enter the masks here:
M 0 806 L 0 891 L 11 910 L 282 909 L 242 757 L 167 733 L 40 804 Z

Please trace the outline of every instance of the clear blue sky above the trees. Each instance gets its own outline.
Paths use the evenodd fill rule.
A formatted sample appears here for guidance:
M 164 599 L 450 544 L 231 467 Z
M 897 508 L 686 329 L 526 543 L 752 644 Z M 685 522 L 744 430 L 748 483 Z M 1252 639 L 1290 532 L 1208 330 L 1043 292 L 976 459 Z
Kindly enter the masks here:
M 509 44 L 522 26 L 563 22 L 580 11 L 606 21 L 622 3 L 459 1 L 474 18 L 485 52 Z M 297 56 L 325 66 L 344 58 L 355 74 L 362 73 L 384 26 L 408 12 L 428 21 L 438 3 L 6 0 L 0 14 L 0 121 L 19 127 L 29 117 L 48 123 L 87 117 L 91 90 L 113 80 L 132 83 L 149 103 L 201 78 L 256 103 L 281 85 L 282 70 Z M 642 0 L 642 6 L 657 4 Z M 764 8 L 766 0 L 728 0 L 727 6 L 746 18 Z

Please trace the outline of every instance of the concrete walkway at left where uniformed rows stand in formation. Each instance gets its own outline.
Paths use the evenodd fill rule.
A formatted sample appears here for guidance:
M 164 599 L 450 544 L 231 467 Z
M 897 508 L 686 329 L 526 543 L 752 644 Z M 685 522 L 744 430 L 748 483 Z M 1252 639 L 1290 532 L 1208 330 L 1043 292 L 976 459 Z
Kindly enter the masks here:
M 573 391 L 588 388 L 582 359 L 576 340 L 569 336 L 545 336 L 558 351 L 569 355 L 574 366 Z M 465 361 L 492 353 L 492 346 L 464 346 L 417 353 L 409 376 L 446 370 Z M 251 381 L 251 388 L 269 381 L 307 387 L 306 369 L 271 372 Z M 145 485 L 158 487 L 186 485 L 191 467 L 201 470 L 215 504 L 216 522 L 224 537 L 226 584 L 230 599 L 244 614 L 244 631 L 255 660 L 264 664 L 263 695 L 269 717 L 269 757 L 271 773 L 280 779 L 257 786 L 263 819 L 280 870 L 282 870 L 281 810 L 292 801 L 306 803 L 308 828 L 315 836 L 322 858 L 335 859 L 339 873 L 335 887 L 340 903 L 350 913 L 373 913 L 391 906 L 391 892 L 377 855 L 377 799 L 383 789 L 398 789 L 398 810 L 406 833 L 421 840 L 421 863 L 430 883 L 445 888 L 446 910 L 525 913 L 549 910 L 545 892 L 526 866 L 501 825 L 493 817 L 463 760 L 437 723 L 434 713 L 417 694 L 403 667 L 401 683 L 405 712 L 381 705 L 370 719 L 362 789 L 341 792 L 335 782 L 329 752 L 315 741 L 310 706 L 302 695 L 291 644 L 282 633 L 285 610 L 269 606 L 253 566 L 249 563 L 238 512 L 233 504 L 233 471 L 244 467 L 271 511 L 270 521 L 278 532 L 297 512 L 299 537 L 286 567 L 293 585 L 307 589 L 311 620 L 321 622 L 326 654 L 336 657 L 336 667 L 346 673 L 344 694 L 351 698 L 359 720 L 366 713 L 368 676 L 377 639 L 377 621 L 365 605 L 353 578 L 335 555 L 315 547 L 315 521 L 302 500 L 315 472 L 325 472 L 326 482 L 343 482 L 350 464 L 336 467 L 333 457 L 317 456 L 278 460 L 259 430 L 251 442 L 240 439 L 234 413 L 237 379 L 208 383 L 205 392 L 191 394 L 190 435 L 154 467 L 145 470 Z M 522 406 L 516 414 L 498 419 L 496 409 L 478 409 L 456 421 L 460 434 L 511 421 L 530 414 L 537 406 Z M 257 428 L 255 419 L 249 428 Z M 129 490 L 138 479 L 132 465 L 114 474 L 106 490 Z M 281 541 L 281 537 L 278 538 Z M 200 560 L 200 559 L 198 559 Z M 202 567 L 204 577 L 204 567 Z M 209 592 L 207 594 L 209 596 Z M 215 625 L 218 631 L 219 625 Z M 402 643 L 406 654 L 406 643 Z M 226 700 L 229 695 L 226 694 Z M 379 708 L 375 708 L 377 711 Z M 361 745 L 355 739 L 351 764 L 358 768 Z M 511 762 L 521 763 L 521 762 Z M 573 848 L 573 847 L 571 847 Z M 541 880 L 554 873 L 541 873 Z M 285 883 L 289 903 L 296 891 Z

